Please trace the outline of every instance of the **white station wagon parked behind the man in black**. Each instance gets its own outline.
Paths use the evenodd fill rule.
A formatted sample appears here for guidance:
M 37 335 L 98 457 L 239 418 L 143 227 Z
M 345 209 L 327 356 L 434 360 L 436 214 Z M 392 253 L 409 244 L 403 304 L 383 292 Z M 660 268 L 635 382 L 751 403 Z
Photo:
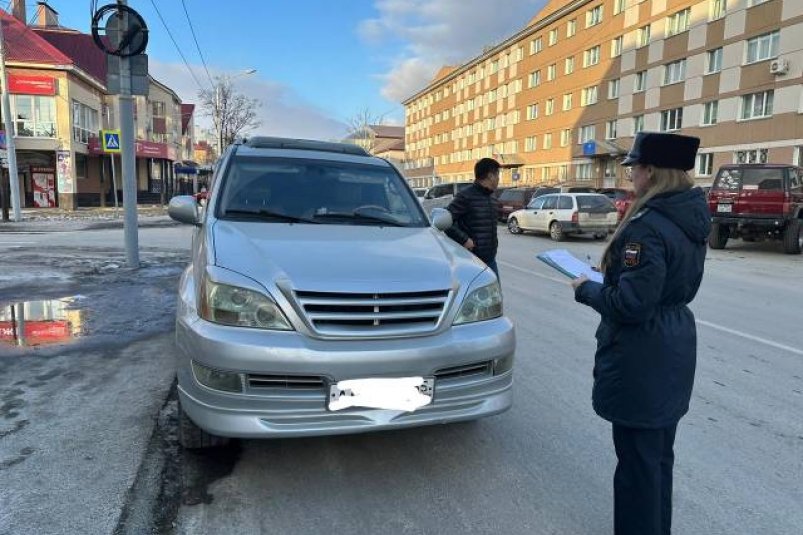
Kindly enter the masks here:
M 507 219 L 511 234 L 548 232 L 555 241 L 569 234 L 593 234 L 603 239 L 616 228 L 616 207 L 598 193 L 553 193 L 536 197 Z

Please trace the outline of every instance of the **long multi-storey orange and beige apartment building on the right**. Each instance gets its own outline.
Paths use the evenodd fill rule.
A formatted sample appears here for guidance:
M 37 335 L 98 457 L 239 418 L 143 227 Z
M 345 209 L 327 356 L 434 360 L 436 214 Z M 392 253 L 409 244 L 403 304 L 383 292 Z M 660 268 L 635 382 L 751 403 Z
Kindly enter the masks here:
M 803 163 L 803 1 L 556 0 L 404 101 L 415 185 L 625 184 L 641 130 L 702 140 L 695 178 L 731 162 Z

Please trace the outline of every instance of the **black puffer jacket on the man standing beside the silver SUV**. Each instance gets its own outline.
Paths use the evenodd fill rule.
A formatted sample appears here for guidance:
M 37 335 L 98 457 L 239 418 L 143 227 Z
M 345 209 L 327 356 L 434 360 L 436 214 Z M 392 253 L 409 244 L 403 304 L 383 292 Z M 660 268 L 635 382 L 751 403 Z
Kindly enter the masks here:
M 497 200 L 492 193 L 475 182 L 455 195 L 446 207 L 454 220 L 446 234 L 460 245 L 471 238 L 474 242 L 472 252 L 486 263 L 496 258 L 499 245 L 496 237 Z

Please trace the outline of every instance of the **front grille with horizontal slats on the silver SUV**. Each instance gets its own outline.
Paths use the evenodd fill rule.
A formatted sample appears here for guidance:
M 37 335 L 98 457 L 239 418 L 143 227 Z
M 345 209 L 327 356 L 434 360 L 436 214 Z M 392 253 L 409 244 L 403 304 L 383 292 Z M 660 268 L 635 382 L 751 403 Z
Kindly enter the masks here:
M 434 331 L 450 291 L 376 294 L 296 291 L 295 294 L 317 333 L 359 337 Z

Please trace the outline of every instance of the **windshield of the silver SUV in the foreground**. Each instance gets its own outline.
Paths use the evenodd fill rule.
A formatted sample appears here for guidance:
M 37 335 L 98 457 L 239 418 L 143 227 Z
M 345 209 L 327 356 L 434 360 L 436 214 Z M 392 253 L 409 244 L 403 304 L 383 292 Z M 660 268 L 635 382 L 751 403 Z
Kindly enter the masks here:
M 392 168 L 290 158 L 235 157 L 216 213 L 271 222 L 427 225 Z

